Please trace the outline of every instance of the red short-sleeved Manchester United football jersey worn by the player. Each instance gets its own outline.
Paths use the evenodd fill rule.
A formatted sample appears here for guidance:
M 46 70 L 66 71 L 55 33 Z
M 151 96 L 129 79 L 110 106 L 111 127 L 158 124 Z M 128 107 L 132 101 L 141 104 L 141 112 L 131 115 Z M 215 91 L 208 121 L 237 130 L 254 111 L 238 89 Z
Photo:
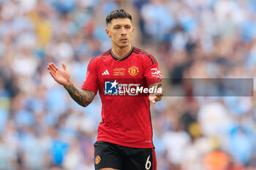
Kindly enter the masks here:
M 134 91 L 128 93 L 121 88 L 132 87 L 141 80 L 148 87 L 161 82 L 161 78 L 154 56 L 136 47 L 123 58 L 117 58 L 110 49 L 92 59 L 82 89 L 94 93 L 99 90 L 102 100 L 97 141 L 127 147 L 153 147 L 148 95 L 136 96 Z

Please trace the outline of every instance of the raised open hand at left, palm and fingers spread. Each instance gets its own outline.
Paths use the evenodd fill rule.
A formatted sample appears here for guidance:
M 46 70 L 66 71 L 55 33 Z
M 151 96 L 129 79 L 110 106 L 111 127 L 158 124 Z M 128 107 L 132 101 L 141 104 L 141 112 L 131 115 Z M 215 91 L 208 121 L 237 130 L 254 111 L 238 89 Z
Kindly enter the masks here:
M 64 62 L 61 63 L 63 69 L 60 69 L 54 63 L 49 63 L 47 69 L 50 72 L 50 75 L 53 79 L 61 85 L 68 85 L 70 81 L 69 70 L 67 69 Z

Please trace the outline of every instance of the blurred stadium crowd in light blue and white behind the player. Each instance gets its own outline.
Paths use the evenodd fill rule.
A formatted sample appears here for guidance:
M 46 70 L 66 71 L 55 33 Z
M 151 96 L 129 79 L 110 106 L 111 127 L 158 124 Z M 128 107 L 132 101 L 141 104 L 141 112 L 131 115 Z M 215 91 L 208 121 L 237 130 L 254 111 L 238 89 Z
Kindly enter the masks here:
M 46 68 L 65 61 L 81 86 L 110 47 L 105 17 L 119 7 L 163 77 L 255 77 L 254 0 L 0 0 L 0 169 L 94 169 L 100 99 L 80 107 Z M 255 97 L 164 97 L 151 106 L 158 169 L 256 169 L 255 106 Z

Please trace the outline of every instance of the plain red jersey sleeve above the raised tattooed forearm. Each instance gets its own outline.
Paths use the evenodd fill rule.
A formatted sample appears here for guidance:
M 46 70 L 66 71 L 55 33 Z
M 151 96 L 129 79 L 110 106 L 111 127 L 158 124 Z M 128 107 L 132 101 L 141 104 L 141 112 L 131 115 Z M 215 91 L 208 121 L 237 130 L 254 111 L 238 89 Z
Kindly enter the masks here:
M 97 93 L 98 88 L 97 66 L 95 59 L 92 59 L 87 67 L 86 78 L 83 81 L 82 89 L 91 90 L 94 93 Z

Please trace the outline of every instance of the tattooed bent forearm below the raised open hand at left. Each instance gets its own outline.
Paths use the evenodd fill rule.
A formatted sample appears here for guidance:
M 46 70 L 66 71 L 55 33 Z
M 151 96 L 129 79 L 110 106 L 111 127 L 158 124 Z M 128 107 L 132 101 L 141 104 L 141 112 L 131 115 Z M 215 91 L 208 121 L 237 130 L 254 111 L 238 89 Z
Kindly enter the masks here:
M 93 101 L 95 93 L 75 87 L 73 83 L 64 85 L 69 95 L 82 107 L 87 107 Z

